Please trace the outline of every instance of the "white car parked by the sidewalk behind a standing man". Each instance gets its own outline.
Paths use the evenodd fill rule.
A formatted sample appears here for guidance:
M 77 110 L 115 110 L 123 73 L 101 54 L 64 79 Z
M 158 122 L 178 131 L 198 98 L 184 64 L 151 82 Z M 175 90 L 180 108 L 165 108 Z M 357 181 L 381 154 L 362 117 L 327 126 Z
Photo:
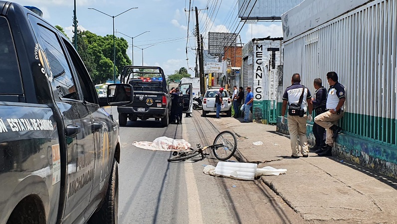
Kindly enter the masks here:
M 202 116 L 206 116 L 209 112 L 216 112 L 215 95 L 218 91 L 218 89 L 209 89 L 205 92 L 202 99 Z M 224 108 L 221 108 L 220 112 L 225 112 L 227 116 L 231 116 L 231 100 L 226 91 L 222 92 L 222 99 Z

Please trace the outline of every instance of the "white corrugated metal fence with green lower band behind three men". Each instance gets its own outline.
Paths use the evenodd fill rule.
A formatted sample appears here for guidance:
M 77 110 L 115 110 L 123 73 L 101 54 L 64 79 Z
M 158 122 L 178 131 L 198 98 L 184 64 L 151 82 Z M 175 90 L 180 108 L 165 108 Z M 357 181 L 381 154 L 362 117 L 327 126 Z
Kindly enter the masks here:
M 397 0 L 374 0 L 284 43 L 283 88 L 293 73 L 314 92 L 335 71 L 346 88 L 342 126 L 353 135 L 397 144 Z

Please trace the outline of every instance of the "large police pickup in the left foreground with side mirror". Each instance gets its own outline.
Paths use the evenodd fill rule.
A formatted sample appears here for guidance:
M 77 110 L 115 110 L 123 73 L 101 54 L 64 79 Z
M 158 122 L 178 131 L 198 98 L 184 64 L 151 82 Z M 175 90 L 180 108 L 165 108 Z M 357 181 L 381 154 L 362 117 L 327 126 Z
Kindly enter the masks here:
M 0 224 L 116 224 L 119 126 L 70 41 L 35 12 L 0 0 Z M 128 84 L 107 94 L 133 100 Z

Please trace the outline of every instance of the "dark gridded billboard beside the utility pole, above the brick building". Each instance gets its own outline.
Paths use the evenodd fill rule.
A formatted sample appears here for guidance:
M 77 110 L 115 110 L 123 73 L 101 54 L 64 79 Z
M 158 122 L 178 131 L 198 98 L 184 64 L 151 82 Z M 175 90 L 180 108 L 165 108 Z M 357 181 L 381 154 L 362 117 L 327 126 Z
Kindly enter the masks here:
M 208 54 L 213 56 L 224 55 L 225 46 L 236 44 L 237 34 L 208 32 Z

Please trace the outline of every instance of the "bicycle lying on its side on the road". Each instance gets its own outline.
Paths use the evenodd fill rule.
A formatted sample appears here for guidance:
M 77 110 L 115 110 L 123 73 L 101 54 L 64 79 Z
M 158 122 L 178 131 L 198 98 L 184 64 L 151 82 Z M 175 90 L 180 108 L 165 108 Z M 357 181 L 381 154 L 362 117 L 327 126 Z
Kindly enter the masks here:
M 201 147 L 197 144 L 198 149 L 190 148 L 190 151 L 173 152 L 173 157 L 167 159 L 169 162 L 184 161 L 201 154 L 201 159 L 209 155 L 204 153 L 207 148 L 212 149 L 214 156 L 219 160 L 227 160 L 233 156 L 237 149 L 237 138 L 231 131 L 221 131 L 216 135 L 212 145 Z

